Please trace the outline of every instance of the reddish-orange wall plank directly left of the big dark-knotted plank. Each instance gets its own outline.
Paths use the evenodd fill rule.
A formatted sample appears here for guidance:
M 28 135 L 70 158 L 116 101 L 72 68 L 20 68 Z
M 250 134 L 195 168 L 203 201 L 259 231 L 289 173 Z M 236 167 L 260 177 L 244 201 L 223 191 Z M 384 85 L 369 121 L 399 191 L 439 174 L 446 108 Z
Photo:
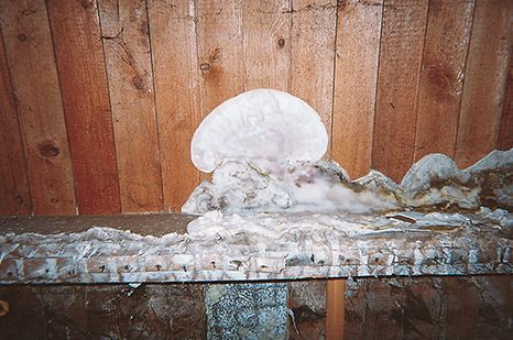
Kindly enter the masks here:
M 427 8 L 427 0 L 384 1 L 372 168 L 397 182 L 414 156 Z

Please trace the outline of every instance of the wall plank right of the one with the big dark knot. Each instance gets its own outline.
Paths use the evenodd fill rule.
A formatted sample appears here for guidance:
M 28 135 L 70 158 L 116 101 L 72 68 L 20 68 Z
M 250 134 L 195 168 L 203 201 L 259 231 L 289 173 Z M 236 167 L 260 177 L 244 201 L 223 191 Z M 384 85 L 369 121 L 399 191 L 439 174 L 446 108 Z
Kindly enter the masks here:
M 460 167 L 495 149 L 511 54 L 513 1 L 477 0 L 456 143 Z

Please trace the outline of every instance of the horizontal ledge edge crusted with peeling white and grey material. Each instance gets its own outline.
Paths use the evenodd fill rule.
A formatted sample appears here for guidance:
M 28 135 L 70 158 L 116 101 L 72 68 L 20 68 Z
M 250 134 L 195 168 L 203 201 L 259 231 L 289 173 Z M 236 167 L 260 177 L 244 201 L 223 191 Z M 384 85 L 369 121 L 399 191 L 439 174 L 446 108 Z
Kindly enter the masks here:
M 18 233 L 15 226 L 9 227 L 12 221 L 23 224 L 22 219 L 2 222 L 0 283 L 512 273 L 512 223 L 505 210 L 482 209 L 473 215 L 207 215 L 193 221 L 188 233 L 160 237 L 113 228 L 73 233 L 73 226 L 58 234 Z M 171 230 L 173 221 L 183 223 L 181 218 L 168 219 Z

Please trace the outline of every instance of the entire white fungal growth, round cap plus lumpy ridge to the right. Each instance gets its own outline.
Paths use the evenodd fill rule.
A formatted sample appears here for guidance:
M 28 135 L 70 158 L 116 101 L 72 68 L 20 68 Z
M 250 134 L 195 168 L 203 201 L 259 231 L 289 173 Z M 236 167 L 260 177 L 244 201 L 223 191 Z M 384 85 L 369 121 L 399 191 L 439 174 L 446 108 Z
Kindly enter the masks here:
M 199 125 L 192 158 L 203 182 L 183 212 L 390 212 L 411 209 L 511 211 L 513 150 L 459 169 L 443 154 L 419 160 L 401 184 L 371 171 L 351 180 L 323 161 L 328 134 L 315 110 L 290 94 L 258 89 L 217 107 Z

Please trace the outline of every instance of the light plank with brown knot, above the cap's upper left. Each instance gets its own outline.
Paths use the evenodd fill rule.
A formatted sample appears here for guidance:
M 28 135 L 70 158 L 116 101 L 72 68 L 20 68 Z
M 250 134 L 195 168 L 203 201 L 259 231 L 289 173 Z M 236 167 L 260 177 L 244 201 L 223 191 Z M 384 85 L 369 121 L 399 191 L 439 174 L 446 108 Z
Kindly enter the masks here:
M 201 113 L 244 90 L 242 3 L 197 1 Z

